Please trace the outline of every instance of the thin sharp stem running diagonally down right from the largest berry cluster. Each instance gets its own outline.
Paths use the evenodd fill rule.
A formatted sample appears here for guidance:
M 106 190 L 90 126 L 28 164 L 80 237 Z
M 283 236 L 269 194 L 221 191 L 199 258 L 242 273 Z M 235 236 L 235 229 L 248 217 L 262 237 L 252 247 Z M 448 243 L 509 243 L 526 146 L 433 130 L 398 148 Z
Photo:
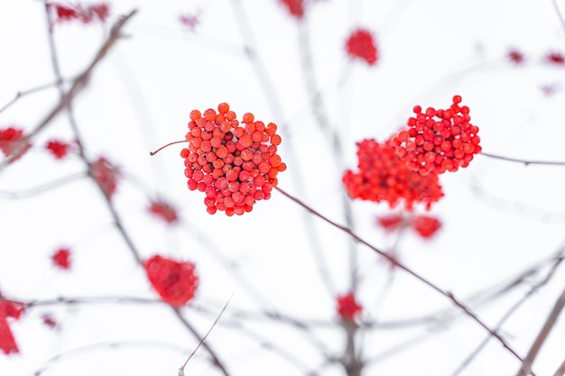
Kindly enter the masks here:
M 425 279 L 424 277 L 422 277 L 420 274 L 418 274 L 415 271 L 412 271 L 412 269 L 408 268 L 407 266 L 405 266 L 402 262 L 394 260 L 393 257 L 391 257 L 390 255 L 386 254 L 385 252 L 379 250 L 378 248 L 376 248 L 374 245 L 372 245 L 371 243 L 368 243 L 366 240 L 364 240 L 363 238 L 361 238 L 359 235 L 355 234 L 353 231 L 351 231 L 350 228 L 348 228 L 347 226 L 344 225 L 339 225 L 338 223 L 332 221 L 331 219 L 329 219 L 327 216 L 322 215 L 320 212 L 316 211 L 314 208 L 308 206 L 307 204 L 303 203 L 299 198 L 297 197 L 293 197 L 291 194 L 285 192 L 284 190 L 282 190 L 282 188 L 279 187 L 275 187 L 275 190 L 278 190 L 279 192 L 282 193 L 283 196 L 286 196 L 288 198 L 290 198 L 292 201 L 294 201 L 296 204 L 298 204 L 299 206 L 302 206 L 304 209 L 306 209 L 307 211 L 310 212 L 310 214 L 319 217 L 321 220 L 323 220 L 324 222 L 328 223 L 329 225 L 332 225 L 336 228 L 338 228 L 338 230 L 341 230 L 342 232 L 348 234 L 349 236 L 351 236 L 353 239 L 355 239 L 357 242 L 362 243 L 364 245 L 366 245 L 368 248 L 370 248 L 371 250 L 375 251 L 376 253 L 378 253 L 380 256 L 384 257 L 385 259 L 387 259 L 388 261 L 390 261 L 391 263 L 393 263 L 396 267 L 398 267 L 399 269 L 407 272 L 408 274 L 412 275 L 412 277 L 414 277 L 416 280 L 420 280 L 424 285 L 427 285 L 428 287 L 430 287 L 431 289 L 436 290 L 437 292 L 439 292 L 441 295 L 443 295 L 444 297 L 448 298 L 449 300 L 451 300 L 451 302 L 453 302 L 453 304 L 455 304 L 457 307 L 461 308 L 465 314 L 467 316 L 469 316 L 470 318 L 472 318 L 475 322 L 477 322 L 477 324 L 479 326 L 482 326 L 490 335 L 494 336 L 498 342 L 500 342 L 506 350 L 508 350 L 510 353 L 512 353 L 514 355 L 514 357 L 516 359 L 518 359 L 520 362 L 523 362 L 522 357 L 516 353 L 514 351 L 514 349 L 512 347 L 510 347 L 509 344 L 506 343 L 505 339 L 499 335 L 496 330 L 491 329 L 489 326 L 486 326 L 486 324 L 480 319 L 478 318 L 477 315 L 475 315 L 471 309 L 469 307 L 467 307 L 465 304 L 463 304 L 462 302 L 460 302 L 458 300 L 458 298 L 455 298 L 455 296 L 446 290 L 441 289 L 439 286 L 435 285 L 434 283 L 432 283 L 430 280 Z M 529 370 L 531 372 L 531 374 L 533 374 L 535 376 L 535 374 L 533 373 L 532 370 Z

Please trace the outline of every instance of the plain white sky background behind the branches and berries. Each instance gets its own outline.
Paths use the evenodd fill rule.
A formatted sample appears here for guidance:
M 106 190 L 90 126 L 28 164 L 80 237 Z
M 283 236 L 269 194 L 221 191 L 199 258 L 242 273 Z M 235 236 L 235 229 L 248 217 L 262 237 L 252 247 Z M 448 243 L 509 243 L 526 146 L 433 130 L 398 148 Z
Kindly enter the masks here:
M 413 105 L 445 107 L 456 94 L 470 108 L 484 151 L 565 160 L 565 67 L 543 62 L 548 52 L 565 51 L 564 30 L 551 1 L 314 3 L 305 22 L 316 80 L 330 126 L 341 135 L 348 168 L 356 168 L 355 142 L 383 141 L 412 115 Z M 565 3 L 558 3 L 565 12 Z M 344 222 L 343 170 L 335 165 L 311 113 L 301 72 L 299 25 L 276 0 L 241 4 L 251 20 L 246 27 L 253 33 L 256 52 L 276 90 L 274 106 L 245 57 L 245 41 L 237 26 L 243 21 L 230 0 L 114 1 L 107 26 L 58 25 L 55 37 L 62 74 L 73 78 L 85 69 L 108 25 L 119 14 L 138 9 L 125 27 L 128 38 L 116 43 L 73 102 L 88 156 L 105 155 L 134 178 L 122 181 L 114 197 L 126 230 L 144 258 L 159 252 L 197 264 L 200 288 L 184 315 L 200 333 L 208 330 L 234 294 L 208 339 L 230 374 L 305 374 L 295 362 L 264 350 L 250 337 L 255 334 L 293 353 L 311 371 L 343 375 L 338 365 L 320 368 L 324 359 L 319 349 L 292 326 L 263 319 L 245 321 L 245 330 L 230 324 L 239 322 L 234 318 L 238 312 L 272 309 L 296 318 L 325 320 L 328 326 L 313 333 L 338 356 L 344 338 L 334 295 L 349 289 L 347 236 L 314 220 L 334 284 L 327 286 L 320 280 L 307 241 L 301 207 L 273 192 L 269 201 L 259 202 L 245 216 L 227 217 L 219 212 L 209 216 L 204 195 L 186 188 L 179 157 L 182 146 L 148 156 L 162 144 L 183 139 L 190 110 L 203 111 L 227 102 L 238 117 L 253 112 L 256 119 L 279 124 L 282 135 L 287 135 L 282 158 L 289 164 L 279 176 L 280 187 Z M 178 18 L 194 13 L 200 14 L 199 24 L 196 32 L 190 32 Z M 347 59 L 344 41 L 357 26 L 375 32 L 379 50 L 375 67 Z M 523 51 L 522 66 L 506 59 L 511 48 Z M 42 2 L 0 0 L 0 106 L 18 91 L 53 80 Z M 541 87 L 547 85 L 557 87 L 557 92 L 544 95 Z M 0 114 L 0 128 L 17 124 L 32 130 L 58 98 L 55 88 L 23 97 Z M 33 142 L 36 147 L 22 160 L 0 173 L 2 292 L 25 301 L 60 296 L 155 298 L 92 182 L 79 180 L 25 199 L 5 197 L 4 192 L 34 188 L 83 170 L 77 156 L 56 161 L 42 150 L 51 138 L 70 140 L 65 115 L 38 135 Z M 289 161 L 291 152 L 299 163 Z M 293 171 L 300 171 L 305 190 L 294 184 Z M 502 286 L 560 247 L 564 172 L 561 167 L 524 167 L 477 156 L 468 169 L 441 176 L 445 197 L 431 213 L 444 226 L 427 242 L 404 234 L 397 250 L 401 259 L 458 298 Z M 148 216 L 148 195 L 165 197 L 178 207 L 181 224 L 171 228 Z M 388 249 L 394 235 L 374 225 L 375 215 L 388 213 L 388 206 L 369 202 L 352 206 L 357 233 Z M 51 266 L 51 253 L 60 245 L 68 245 L 73 252 L 73 265 L 67 272 Z M 448 299 L 402 272 L 396 272 L 390 282 L 383 262 L 366 247 L 358 246 L 357 253 L 363 277 L 357 294 L 365 307 L 364 320 L 389 322 L 452 307 Z M 224 267 L 229 262 L 234 265 L 231 269 Z M 495 326 L 546 271 L 494 302 L 469 304 L 489 326 Z M 239 276 L 263 298 L 256 298 Z M 565 272 L 558 270 L 505 324 L 502 334 L 520 354 L 527 353 L 564 282 Z M 59 331 L 42 325 L 42 314 L 48 312 L 60 322 Z M 366 358 L 377 359 L 366 374 L 448 376 L 486 335 L 467 317 L 456 317 L 440 326 L 379 329 L 360 336 Z M 13 321 L 12 327 L 21 353 L 0 356 L 0 376 L 32 375 L 59 354 L 68 355 L 52 363 L 44 375 L 174 375 L 197 344 L 171 310 L 159 304 L 34 307 Z M 108 342 L 121 345 L 71 353 Z M 552 374 L 563 360 L 563 346 L 565 326 L 560 320 L 533 370 L 538 375 Z M 500 344 L 491 341 L 462 374 L 510 375 L 518 366 Z M 186 372 L 219 374 L 203 349 Z

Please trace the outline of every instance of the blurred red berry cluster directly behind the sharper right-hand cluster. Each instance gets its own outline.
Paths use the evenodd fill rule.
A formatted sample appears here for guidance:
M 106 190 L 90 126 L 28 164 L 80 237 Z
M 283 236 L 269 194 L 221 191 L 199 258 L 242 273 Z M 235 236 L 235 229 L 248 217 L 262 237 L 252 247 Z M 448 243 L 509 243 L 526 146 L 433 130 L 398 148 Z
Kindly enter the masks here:
M 386 201 L 391 207 L 403 201 L 406 210 L 412 210 L 414 203 L 424 203 L 429 209 L 443 197 L 438 176 L 410 170 L 390 141 L 357 142 L 357 158 L 359 171 L 347 170 L 342 178 L 351 198 Z

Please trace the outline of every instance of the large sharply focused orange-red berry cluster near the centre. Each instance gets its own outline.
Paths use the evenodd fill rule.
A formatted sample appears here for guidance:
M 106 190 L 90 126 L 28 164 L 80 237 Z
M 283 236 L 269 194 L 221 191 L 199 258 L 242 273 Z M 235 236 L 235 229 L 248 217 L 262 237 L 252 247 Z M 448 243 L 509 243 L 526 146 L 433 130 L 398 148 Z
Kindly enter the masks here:
M 286 165 L 277 154 L 281 136 L 276 124 L 265 125 L 247 113 L 241 124 L 227 103 L 218 113 L 209 108 L 190 112 L 188 149 L 181 151 L 190 190 L 206 193 L 209 214 L 217 210 L 241 216 L 255 201 L 269 199 Z

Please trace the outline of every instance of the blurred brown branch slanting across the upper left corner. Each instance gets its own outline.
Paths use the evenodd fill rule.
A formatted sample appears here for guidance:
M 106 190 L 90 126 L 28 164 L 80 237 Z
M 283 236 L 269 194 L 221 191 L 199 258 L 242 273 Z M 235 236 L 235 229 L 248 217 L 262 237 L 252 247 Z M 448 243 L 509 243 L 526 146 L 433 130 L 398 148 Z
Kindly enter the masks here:
M 35 126 L 32 132 L 28 133 L 23 138 L 21 142 L 22 146 L 14 150 L 14 152 L 8 158 L 0 162 L 0 170 L 5 168 L 12 161 L 18 159 L 23 154 L 23 151 L 25 151 L 27 142 L 30 141 L 32 137 L 35 136 L 37 133 L 40 133 L 43 130 L 43 128 L 47 126 L 47 124 L 50 124 L 51 120 L 53 120 L 55 116 L 60 113 L 60 111 L 66 108 L 69 105 L 69 103 L 72 101 L 72 99 L 75 96 L 77 96 L 84 87 L 87 86 L 88 79 L 90 78 L 92 71 L 95 69 L 97 64 L 106 57 L 107 52 L 112 48 L 112 46 L 114 46 L 116 41 L 119 38 L 121 38 L 122 36 L 121 31 L 125 23 L 127 23 L 127 21 L 129 21 L 129 19 L 132 18 L 136 12 L 137 10 L 134 9 L 129 14 L 126 14 L 124 17 L 120 18 L 114 24 L 114 26 L 112 26 L 110 35 L 107 37 L 107 41 L 105 41 L 102 47 L 100 47 L 96 57 L 88 65 L 88 68 L 85 69 L 82 73 L 80 73 L 79 76 L 72 81 L 72 85 L 69 88 L 69 90 L 63 96 L 60 97 L 59 103 L 55 105 L 55 107 L 51 110 L 51 112 L 47 116 L 45 116 L 45 118 L 43 118 L 40 124 Z

